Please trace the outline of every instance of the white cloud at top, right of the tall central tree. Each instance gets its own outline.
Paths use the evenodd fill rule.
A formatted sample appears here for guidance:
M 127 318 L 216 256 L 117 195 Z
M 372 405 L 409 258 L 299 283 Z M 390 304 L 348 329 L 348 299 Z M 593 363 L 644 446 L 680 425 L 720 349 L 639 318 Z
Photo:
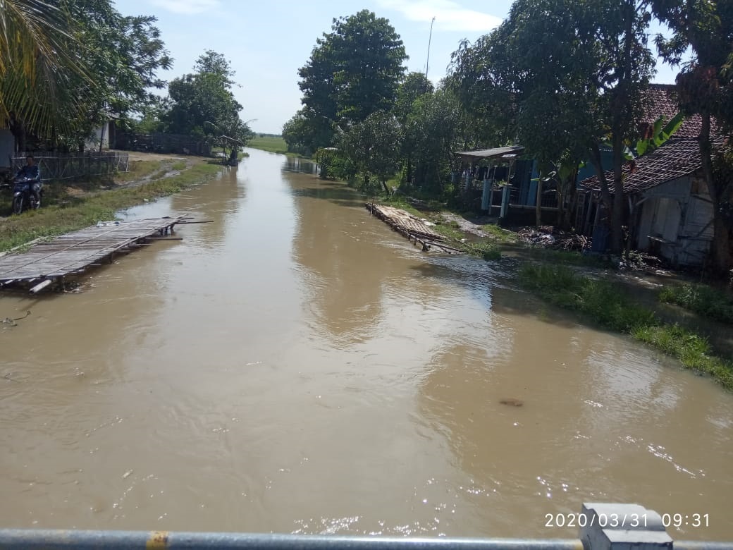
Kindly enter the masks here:
M 436 30 L 488 32 L 501 23 L 495 15 L 468 10 L 452 0 L 378 1 L 383 7 L 402 12 L 410 21 L 430 22 L 435 17 Z

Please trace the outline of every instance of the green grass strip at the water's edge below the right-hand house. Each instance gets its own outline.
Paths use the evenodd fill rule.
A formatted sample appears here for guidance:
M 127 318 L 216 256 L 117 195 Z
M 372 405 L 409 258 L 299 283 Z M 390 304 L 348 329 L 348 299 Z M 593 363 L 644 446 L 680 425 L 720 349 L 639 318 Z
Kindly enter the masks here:
M 733 390 L 732 362 L 715 356 L 700 334 L 663 323 L 651 309 L 635 304 L 618 285 L 575 274 L 570 268 L 548 265 L 525 265 L 519 281 L 550 303 L 581 312 L 607 329 L 630 334 Z

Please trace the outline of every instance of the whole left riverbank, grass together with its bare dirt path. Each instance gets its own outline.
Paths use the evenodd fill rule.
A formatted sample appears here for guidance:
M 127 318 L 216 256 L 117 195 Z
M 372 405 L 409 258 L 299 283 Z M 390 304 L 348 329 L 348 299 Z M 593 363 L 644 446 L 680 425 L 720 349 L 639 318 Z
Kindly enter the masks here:
M 0 252 L 112 220 L 118 210 L 204 183 L 220 171 L 221 164 L 210 158 L 136 153 L 130 158 L 129 172 L 48 183 L 39 210 L 0 217 Z M 9 190 L 0 194 L 0 212 L 10 212 L 10 199 Z

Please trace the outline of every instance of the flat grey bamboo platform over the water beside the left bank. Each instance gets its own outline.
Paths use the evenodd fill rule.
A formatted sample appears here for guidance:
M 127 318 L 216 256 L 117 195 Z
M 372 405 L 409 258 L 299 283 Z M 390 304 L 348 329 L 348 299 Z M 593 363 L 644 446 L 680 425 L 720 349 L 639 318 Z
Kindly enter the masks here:
M 27 288 L 37 293 L 65 278 L 83 274 L 88 268 L 111 263 L 115 254 L 130 252 L 150 241 L 180 241 L 167 236 L 188 216 L 130 221 L 100 222 L 83 230 L 59 235 L 48 242 L 36 243 L 26 252 L 0 257 L 0 288 Z

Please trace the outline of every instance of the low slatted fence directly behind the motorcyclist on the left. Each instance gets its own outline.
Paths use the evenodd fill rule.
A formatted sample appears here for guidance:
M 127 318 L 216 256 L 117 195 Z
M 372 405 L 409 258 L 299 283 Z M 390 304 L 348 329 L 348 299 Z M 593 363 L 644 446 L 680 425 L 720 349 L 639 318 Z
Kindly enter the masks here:
M 12 173 L 26 164 L 26 156 L 33 155 L 40 167 L 43 181 L 70 180 L 77 177 L 111 175 L 127 172 L 130 164 L 128 153 L 114 151 L 89 151 L 86 153 L 18 153 L 10 156 Z

